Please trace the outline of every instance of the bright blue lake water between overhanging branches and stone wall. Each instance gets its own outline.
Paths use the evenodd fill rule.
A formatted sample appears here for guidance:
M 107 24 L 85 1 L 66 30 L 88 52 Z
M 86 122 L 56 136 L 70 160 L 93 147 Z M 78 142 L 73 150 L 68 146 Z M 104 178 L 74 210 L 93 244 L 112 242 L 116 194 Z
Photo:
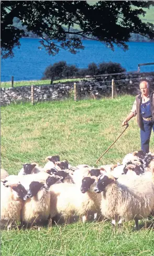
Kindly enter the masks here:
M 128 43 L 129 50 L 124 52 L 115 46 L 113 52 L 97 41 L 83 41 L 84 50 L 71 54 L 68 51 L 60 50 L 56 56 L 49 56 L 45 50 L 39 50 L 40 39 L 21 38 L 20 49 L 15 48 L 15 57 L 1 60 L 1 81 L 10 81 L 14 76 L 15 81 L 40 80 L 43 72 L 50 64 L 59 61 L 66 61 L 68 64 L 85 68 L 88 64 L 95 62 L 118 62 L 127 71 L 136 71 L 139 63 L 154 62 L 154 43 Z M 141 67 L 141 72 L 154 71 L 154 65 Z

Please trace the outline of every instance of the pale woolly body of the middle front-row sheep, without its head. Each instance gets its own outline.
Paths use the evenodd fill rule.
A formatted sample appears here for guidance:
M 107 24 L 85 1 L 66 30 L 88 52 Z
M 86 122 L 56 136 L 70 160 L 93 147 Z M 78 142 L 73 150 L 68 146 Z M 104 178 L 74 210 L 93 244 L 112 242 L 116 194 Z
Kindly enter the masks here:
M 76 216 L 85 222 L 89 212 L 96 212 L 94 193 L 82 193 L 76 184 L 61 183 L 50 187 L 50 218 L 58 216 L 64 222 Z

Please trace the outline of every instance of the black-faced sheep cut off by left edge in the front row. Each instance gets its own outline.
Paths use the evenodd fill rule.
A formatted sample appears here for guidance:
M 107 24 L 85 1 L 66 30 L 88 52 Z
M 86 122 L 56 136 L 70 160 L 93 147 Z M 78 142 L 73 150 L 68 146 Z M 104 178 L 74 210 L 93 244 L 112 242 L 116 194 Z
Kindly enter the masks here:
M 20 221 L 21 209 L 26 200 L 27 191 L 20 183 L 4 186 L 1 182 L 1 228 L 7 225 L 7 230 Z

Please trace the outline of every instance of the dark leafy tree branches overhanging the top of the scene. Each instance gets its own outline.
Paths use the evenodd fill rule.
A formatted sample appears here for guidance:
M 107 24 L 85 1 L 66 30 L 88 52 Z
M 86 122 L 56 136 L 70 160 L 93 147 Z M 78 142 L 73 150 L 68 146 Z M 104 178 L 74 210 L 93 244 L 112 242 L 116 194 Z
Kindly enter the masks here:
M 13 25 L 13 18 L 20 19 L 27 31 L 42 38 L 41 46 L 50 55 L 60 48 L 75 54 L 83 49 L 81 39 L 92 38 L 114 50 L 114 44 L 127 50 L 130 33 L 154 38 L 154 25 L 141 21 L 142 8 L 149 8 L 153 1 L 1 1 L 2 57 L 13 57 L 13 48 L 20 47 L 19 39 L 24 29 Z M 78 32 L 71 28 L 77 26 Z M 46 36 L 45 36 L 46 35 Z M 68 38 L 69 35 L 69 38 Z

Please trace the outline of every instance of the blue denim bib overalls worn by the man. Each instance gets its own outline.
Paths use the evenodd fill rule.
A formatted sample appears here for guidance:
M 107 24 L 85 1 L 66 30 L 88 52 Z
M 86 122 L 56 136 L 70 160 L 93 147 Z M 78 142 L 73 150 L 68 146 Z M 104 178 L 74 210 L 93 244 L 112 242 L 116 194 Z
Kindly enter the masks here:
M 146 103 L 141 103 L 140 113 L 141 113 L 141 117 L 144 117 L 144 118 L 151 117 L 150 101 L 147 101 Z M 143 119 L 143 124 L 144 124 L 144 130 L 140 130 L 141 149 L 144 152 L 149 153 L 150 135 L 151 135 L 152 129 L 154 132 L 154 124 L 152 121 L 146 121 L 144 119 Z

